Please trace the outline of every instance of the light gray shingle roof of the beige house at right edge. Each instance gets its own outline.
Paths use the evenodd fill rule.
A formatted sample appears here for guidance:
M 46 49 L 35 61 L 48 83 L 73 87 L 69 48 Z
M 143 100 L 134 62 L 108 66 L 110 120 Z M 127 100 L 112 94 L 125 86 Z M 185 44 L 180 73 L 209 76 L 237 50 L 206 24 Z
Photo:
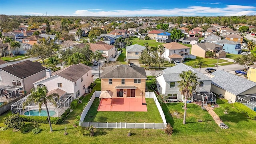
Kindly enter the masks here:
M 213 72 L 212 75 L 214 76 L 212 78 L 212 84 L 231 92 L 234 95 L 239 95 L 242 92 L 256 86 L 256 82 L 252 82 L 223 70 L 217 70 Z M 256 88 L 254 93 L 256 93 Z

